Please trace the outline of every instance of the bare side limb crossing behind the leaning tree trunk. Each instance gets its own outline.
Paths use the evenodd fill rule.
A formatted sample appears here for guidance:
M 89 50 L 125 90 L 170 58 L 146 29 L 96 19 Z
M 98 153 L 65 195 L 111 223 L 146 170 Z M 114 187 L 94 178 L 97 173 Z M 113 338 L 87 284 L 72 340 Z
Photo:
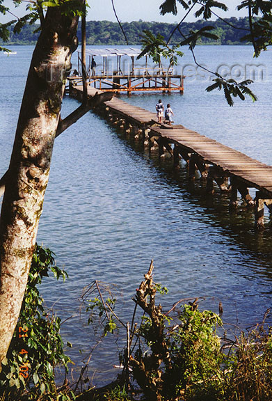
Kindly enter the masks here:
M 94 107 L 97 107 L 99 106 L 99 104 L 111 100 L 113 95 L 114 92 L 95 93 L 95 96 L 91 97 L 88 100 L 87 104 L 85 105 L 81 104 L 81 106 L 79 106 L 76 110 L 74 110 L 71 114 L 69 114 L 69 116 L 64 118 L 64 120 L 61 119 L 59 120 L 55 137 L 61 135 L 65 131 L 65 129 L 69 128 L 74 123 L 77 123 L 77 120 L 79 120 L 79 118 L 83 117 L 84 114 L 88 113 L 88 111 L 90 111 Z M 5 185 L 7 180 L 8 180 L 8 171 L 6 171 L 3 177 L 0 178 L 0 198 L 5 191 Z

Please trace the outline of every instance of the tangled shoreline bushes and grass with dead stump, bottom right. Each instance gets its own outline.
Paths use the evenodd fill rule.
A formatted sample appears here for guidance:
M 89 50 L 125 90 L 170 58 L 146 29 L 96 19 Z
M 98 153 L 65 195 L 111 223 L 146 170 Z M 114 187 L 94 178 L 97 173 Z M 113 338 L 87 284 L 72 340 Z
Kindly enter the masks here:
M 88 300 L 91 318 L 97 309 L 104 331 L 109 320 L 127 329 L 120 354 L 120 382 L 127 384 L 126 393 L 136 390 L 148 401 L 271 401 L 272 327 L 266 324 L 270 311 L 247 332 L 237 328 L 238 334 L 224 331 L 216 313 L 199 310 L 197 299 L 183 306 L 179 300 L 165 311 L 155 297 L 167 290 L 153 282 L 152 269 L 151 264 L 136 289 L 130 324 L 113 313 L 105 293 L 99 291 L 94 301 Z M 136 309 L 141 310 L 138 318 Z M 218 335 L 218 327 L 224 336 Z

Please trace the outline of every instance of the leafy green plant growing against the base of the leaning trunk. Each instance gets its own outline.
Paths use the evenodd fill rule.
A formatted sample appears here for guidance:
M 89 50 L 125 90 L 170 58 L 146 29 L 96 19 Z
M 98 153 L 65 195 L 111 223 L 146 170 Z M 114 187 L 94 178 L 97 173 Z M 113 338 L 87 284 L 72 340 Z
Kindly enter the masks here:
M 52 272 L 56 279 L 67 276 L 54 261 L 50 249 L 36 245 L 17 327 L 0 374 L 1 401 L 59 400 L 74 395 L 66 388 L 57 391 L 54 368 L 67 371 L 70 358 L 63 352 L 61 319 L 45 308 L 38 285 Z

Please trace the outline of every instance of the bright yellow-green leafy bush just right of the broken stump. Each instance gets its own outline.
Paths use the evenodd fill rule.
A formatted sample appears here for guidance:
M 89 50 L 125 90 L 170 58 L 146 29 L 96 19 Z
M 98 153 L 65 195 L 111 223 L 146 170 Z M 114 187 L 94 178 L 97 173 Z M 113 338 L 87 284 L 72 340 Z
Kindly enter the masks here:
M 170 331 L 172 365 L 166 371 L 166 393 L 173 397 L 211 401 L 222 389 L 221 339 L 216 334 L 221 318 L 210 310 L 184 305 L 179 313 L 178 327 Z M 171 390 L 171 391 L 170 391 Z

